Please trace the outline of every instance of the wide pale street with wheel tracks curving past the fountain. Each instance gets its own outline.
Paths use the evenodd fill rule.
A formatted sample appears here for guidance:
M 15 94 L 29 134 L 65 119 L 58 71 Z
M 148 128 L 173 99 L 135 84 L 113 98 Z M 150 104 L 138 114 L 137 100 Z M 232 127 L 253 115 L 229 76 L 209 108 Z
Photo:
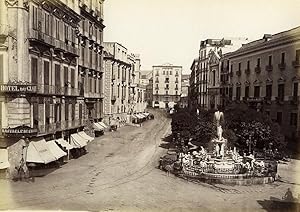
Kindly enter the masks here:
M 35 182 L 1 181 L 0 209 L 256 211 L 287 188 L 295 197 L 300 193 L 298 161 L 280 164 L 281 182 L 269 185 L 209 185 L 168 177 L 157 165 L 171 120 L 154 113 L 142 127 L 125 126 L 95 139 L 88 154 Z

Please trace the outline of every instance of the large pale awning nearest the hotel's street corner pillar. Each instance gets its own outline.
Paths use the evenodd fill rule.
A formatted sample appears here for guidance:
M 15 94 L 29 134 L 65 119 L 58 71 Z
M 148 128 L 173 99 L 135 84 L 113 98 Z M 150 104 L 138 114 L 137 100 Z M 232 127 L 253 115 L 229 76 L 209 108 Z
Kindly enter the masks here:
M 47 164 L 53 161 L 56 161 L 56 158 L 49 150 L 45 139 L 41 138 L 29 143 L 26 162 Z

